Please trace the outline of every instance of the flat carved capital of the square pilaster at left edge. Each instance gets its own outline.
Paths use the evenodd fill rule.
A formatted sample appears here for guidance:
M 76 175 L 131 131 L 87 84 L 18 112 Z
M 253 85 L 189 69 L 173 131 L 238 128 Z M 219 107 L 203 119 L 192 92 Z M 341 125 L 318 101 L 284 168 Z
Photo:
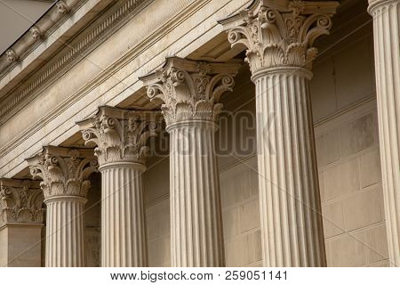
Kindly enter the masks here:
M 0 179 L 0 222 L 42 224 L 43 200 L 38 182 Z

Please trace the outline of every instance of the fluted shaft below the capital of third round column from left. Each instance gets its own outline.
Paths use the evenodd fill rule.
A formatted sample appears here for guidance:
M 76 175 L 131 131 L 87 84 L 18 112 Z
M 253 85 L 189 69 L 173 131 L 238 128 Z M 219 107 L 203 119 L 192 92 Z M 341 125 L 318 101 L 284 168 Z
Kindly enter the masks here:
M 172 266 L 223 266 L 215 124 L 188 121 L 171 134 Z

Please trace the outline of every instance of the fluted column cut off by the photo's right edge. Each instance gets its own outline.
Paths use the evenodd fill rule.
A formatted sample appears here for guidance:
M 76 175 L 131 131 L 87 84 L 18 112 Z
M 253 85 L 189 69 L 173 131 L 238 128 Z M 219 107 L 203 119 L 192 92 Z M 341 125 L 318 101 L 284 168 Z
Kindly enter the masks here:
M 400 1 L 369 0 L 389 260 L 400 266 Z

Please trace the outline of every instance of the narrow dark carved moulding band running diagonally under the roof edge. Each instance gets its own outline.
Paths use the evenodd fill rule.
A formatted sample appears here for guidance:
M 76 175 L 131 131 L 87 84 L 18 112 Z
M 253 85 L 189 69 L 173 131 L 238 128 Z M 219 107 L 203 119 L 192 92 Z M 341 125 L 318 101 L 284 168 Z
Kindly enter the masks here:
M 57 53 L 50 64 L 29 77 L 26 84 L 6 94 L 3 102 L 0 103 L 0 126 L 24 106 L 23 102 L 29 102 L 37 92 L 62 75 L 68 66 L 73 65 L 75 61 L 82 59 L 84 54 L 100 45 L 113 28 L 119 27 L 118 24 L 121 24 L 124 19 L 131 19 L 135 10 L 140 10 L 140 7 L 143 8 L 142 4 L 151 1 L 153 0 L 125 0 L 116 8 L 111 9 L 111 12 L 108 12 L 101 20 L 94 22 L 92 27 L 85 31 L 84 36 L 76 37 L 76 40 L 72 41 L 68 47 Z M 13 57 L 13 54 L 9 56 Z

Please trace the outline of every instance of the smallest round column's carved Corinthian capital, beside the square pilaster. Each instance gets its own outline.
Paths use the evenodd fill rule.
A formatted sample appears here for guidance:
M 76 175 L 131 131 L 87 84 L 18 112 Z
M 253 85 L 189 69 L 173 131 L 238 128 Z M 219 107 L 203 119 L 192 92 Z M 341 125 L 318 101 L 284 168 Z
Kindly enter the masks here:
M 27 159 L 30 174 L 41 178 L 44 199 L 60 196 L 86 197 L 91 187 L 89 175 L 98 171 L 92 149 L 46 146 L 42 153 Z

